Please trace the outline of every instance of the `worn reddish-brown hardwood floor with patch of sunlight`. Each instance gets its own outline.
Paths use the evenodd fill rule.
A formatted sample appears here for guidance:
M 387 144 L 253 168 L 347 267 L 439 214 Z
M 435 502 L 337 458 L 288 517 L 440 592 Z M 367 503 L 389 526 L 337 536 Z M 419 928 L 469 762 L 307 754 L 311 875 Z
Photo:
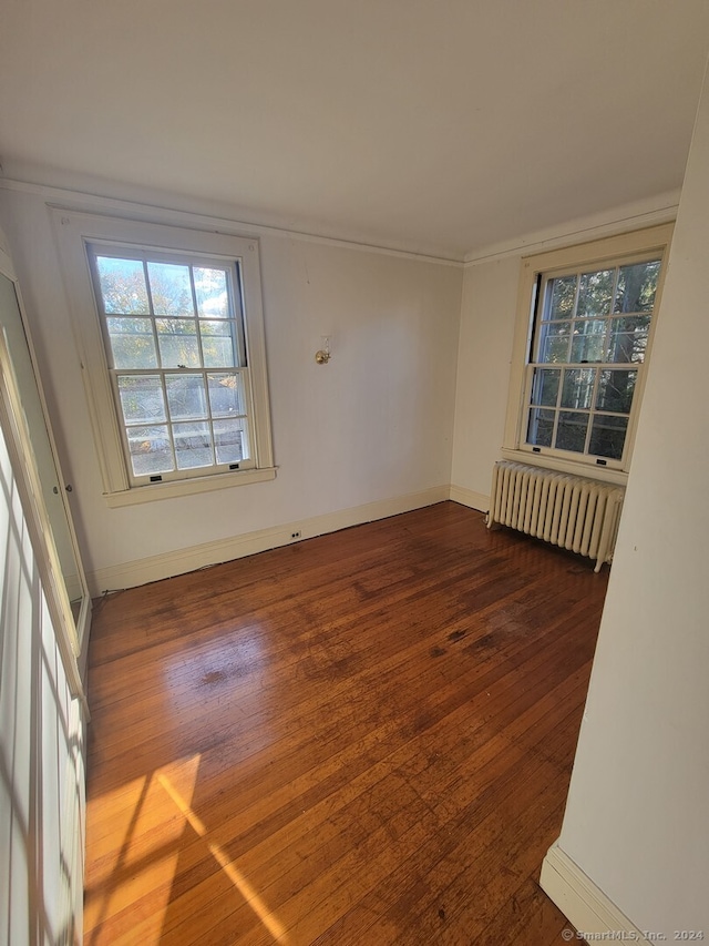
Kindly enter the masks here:
M 84 942 L 562 944 L 606 581 L 443 502 L 96 602 Z

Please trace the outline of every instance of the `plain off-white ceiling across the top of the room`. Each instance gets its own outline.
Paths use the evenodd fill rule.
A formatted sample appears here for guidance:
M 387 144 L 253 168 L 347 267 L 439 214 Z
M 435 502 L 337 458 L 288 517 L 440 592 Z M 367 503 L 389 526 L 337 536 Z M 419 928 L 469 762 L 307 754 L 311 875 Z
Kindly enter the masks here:
M 0 162 L 462 258 L 678 187 L 708 50 L 707 0 L 2 0 Z

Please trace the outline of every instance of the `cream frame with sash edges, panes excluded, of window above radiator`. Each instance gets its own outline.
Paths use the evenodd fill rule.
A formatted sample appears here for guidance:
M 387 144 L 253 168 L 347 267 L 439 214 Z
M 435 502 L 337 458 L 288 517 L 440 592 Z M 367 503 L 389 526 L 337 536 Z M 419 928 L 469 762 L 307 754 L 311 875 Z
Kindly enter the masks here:
M 522 258 L 510 374 L 510 394 L 502 447 L 502 455 L 505 459 L 542 466 L 563 472 L 578 474 L 606 482 L 624 485 L 627 481 L 647 369 L 651 360 L 653 337 L 661 304 L 662 284 L 666 276 L 667 254 L 672 227 L 674 224 L 671 223 L 661 224 L 646 230 L 624 233 Z M 554 276 L 571 274 L 582 268 L 588 272 L 594 268 L 603 268 L 604 266 L 625 265 L 639 260 L 649 260 L 653 255 L 660 260 L 660 275 L 645 359 L 638 365 L 638 379 L 629 413 L 621 460 L 607 459 L 605 464 L 597 462 L 595 455 L 563 451 L 554 447 L 535 448 L 533 445 L 527 444 L 530 398 L 534 374 L 532 366 L 537 364 L 532 360 L 534 356 L 535 328 L 537 326 L 537 296 L 542 291 L 542 282 L 546 282 Z M 543 299 L 540 299 L 538 305 L 543 305 Z M 558 365 L 558 367 L 565 366 L 562 363 Z M 604 363 L 605 366 L 606 363 Z M 549 367 L 554 367 L 554 365 L 549 364 Z M 594 367 L 598 367 L 598 365 L 594 363 Z M 612 369 L 613 364 L 607 363 L 607 367 Z

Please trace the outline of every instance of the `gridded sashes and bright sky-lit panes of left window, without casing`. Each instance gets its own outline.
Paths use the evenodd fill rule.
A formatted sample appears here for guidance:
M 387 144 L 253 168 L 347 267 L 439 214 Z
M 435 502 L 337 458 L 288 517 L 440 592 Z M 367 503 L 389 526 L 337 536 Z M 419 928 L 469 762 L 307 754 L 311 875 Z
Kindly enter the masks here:
M 88 248 L 131 485 L 253 468 L 239 261 Z

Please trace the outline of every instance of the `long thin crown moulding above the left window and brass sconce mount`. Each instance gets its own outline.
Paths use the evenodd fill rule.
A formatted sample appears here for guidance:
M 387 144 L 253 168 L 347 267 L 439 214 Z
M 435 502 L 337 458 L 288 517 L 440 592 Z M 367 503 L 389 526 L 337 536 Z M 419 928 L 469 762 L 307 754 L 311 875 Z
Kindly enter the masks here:
M 127 201 L 119 197 L 105 197 L 101 194 L 88 194 L 65 187 L 53 187 L 48 184 L 33 184 L 27 181 L 14 181 L 10 177 L 0 180 L 0 189 L 20 194 L 33 194 L 47 201 L 55 210 L 74 213 L 89 212 L 115 214 L 127 220 L 148 221 L 176 226 L 201 227 L 216 233 L 256 238 L 257 236 L 278 236 L 286 240 L 302 240 L 307 243 L 318 243 L 323 246 L 337 246 L 341 250 L 360 250 L 366 253 L 377 253 L 383 256 L 398 256 L 403 260 L 417 260 L 420 263 L 435 263 L 439 266 L 463 267 L 460 257 L 438 256 L 429 253 L 417 253 L 411 250 L 400 250 L 393 246 L 380 246 L 368 243 L 367 240 L 345 240 L 337 236 L 320 236 L 317 233 L 306 233 L 298 230 L 276 226 L 253 221 L 238 220 L 239 211 L 234 208 L 235 217 L 212 216 L 194 213 L 193 211 L 173 210 L 142 201 Z

